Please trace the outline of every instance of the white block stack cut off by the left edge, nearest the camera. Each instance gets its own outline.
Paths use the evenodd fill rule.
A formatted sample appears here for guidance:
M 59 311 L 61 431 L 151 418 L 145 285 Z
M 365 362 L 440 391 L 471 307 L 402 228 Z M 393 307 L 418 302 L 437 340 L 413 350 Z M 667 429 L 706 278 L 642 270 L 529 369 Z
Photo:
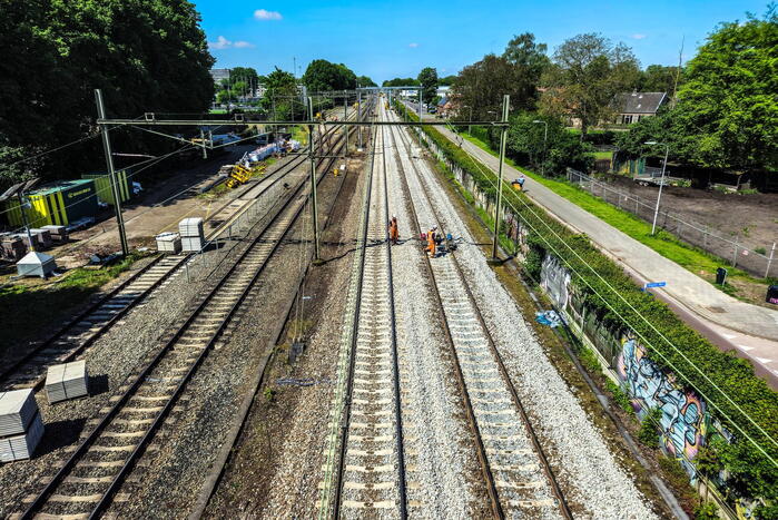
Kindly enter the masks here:
M 43 436 L 31 389 L 0 392 L 0 461 L 29 459 Z

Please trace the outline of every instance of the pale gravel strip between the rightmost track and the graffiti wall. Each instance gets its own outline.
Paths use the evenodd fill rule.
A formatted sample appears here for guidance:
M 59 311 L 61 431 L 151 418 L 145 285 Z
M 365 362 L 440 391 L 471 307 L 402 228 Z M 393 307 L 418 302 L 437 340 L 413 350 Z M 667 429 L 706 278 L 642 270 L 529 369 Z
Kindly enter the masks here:
M 429 164 L 418 165 L 426 185 L 436 187 L 430 195 L 444 225 L 464 239 L 456 253 L 460 265 L 568 501 L 582 507 L 584 517 L 654 518 L 486 264 Z

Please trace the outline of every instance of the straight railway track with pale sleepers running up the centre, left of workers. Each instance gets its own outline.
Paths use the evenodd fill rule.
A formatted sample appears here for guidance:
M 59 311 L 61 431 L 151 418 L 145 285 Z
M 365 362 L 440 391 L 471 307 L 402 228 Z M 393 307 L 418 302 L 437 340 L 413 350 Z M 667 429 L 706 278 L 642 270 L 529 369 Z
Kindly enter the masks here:
M 345 387 L 332 422 L 338 455 L 332 457 L 331 448 L 319 518 L 407 517 L 383 131 L 378 128 L 373 140 L 363 198 L 348 291 L 348 345 L 342 357 Z

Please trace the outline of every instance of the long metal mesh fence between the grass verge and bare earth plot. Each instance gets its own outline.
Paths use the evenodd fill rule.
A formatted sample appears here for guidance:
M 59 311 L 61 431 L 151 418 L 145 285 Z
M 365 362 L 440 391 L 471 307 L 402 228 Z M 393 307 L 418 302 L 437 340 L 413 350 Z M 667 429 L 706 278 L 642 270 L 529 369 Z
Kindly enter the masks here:
M 568 180 L 646 222 L 653 220 L 656 200 L 622 192 L 572 168 L 568 168 Z M 705 224 L 693 222 L 685 215 L 664 210 L 661 206 L 659 207 L 657 226 L 691 245 L 726 259 L 732 267 L 739 266 L 756 276 L 778 277 L 778 253 L 776 253 L 775 242 L 759 245 L 750 243 L 746 237 L 739 235 L 726 237 Z

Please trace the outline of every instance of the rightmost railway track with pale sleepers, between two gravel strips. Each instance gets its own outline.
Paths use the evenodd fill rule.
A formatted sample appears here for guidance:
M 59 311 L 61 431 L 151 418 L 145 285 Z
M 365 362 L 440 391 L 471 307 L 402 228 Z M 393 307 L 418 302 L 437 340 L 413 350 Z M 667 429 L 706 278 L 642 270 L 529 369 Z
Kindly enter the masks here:
M 431 186 L 412 159 L 410 139 L 391 127 L 391 141 L 416 230 L 437 226 L 445 236 L 429 196 Z M 414 193 L 421 195 L 414 198 Z M 456 255 L 427 257 L 426 266 L 494 517 L 572 518 Z

